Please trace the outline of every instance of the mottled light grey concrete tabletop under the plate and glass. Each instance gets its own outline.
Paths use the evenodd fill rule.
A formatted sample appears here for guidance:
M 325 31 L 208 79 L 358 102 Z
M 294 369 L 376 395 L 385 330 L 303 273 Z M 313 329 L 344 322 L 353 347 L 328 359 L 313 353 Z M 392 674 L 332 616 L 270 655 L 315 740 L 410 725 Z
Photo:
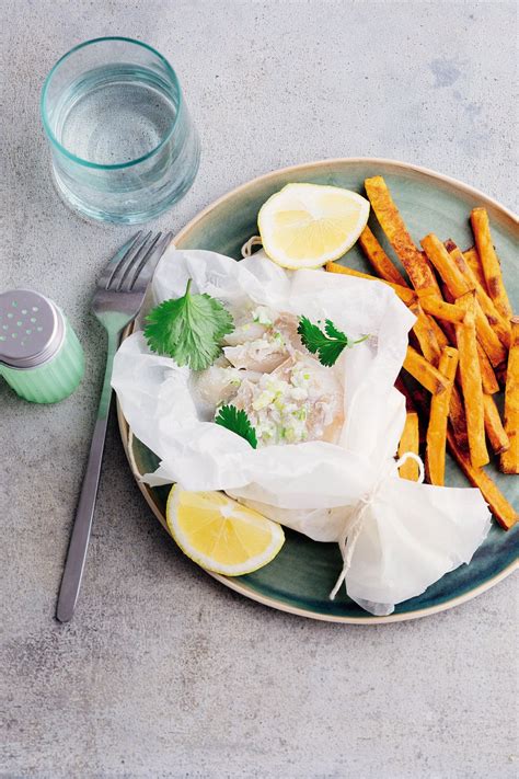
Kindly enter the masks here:
M 130 230 L 60 203 L 38 118 L 57 57 L 120 34 L 177 69 L 204 154 L 176 230 L 280 165 L 379 156 L 516 205 L 512 2 L 0 0 L 1 287 L 57 300 L 86 352 L 59 405 L 0 387 L 0 776 L 517 776 L 517 580 L 415 622 L 312 622 L 200 575 L 115 423 L 74 620 L 54 621 L 103 362 L 92 285 Z

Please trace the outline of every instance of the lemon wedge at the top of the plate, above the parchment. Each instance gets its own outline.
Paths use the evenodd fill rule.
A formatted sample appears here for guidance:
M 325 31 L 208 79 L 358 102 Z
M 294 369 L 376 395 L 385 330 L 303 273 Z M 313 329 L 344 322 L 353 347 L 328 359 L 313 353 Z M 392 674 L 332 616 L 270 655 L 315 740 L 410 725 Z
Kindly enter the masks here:
M 260 209 L 267 255 L 290 270 L 320 267 L 351 249 L 368 221 L 369 201 L 320 184 L 287 184 Z

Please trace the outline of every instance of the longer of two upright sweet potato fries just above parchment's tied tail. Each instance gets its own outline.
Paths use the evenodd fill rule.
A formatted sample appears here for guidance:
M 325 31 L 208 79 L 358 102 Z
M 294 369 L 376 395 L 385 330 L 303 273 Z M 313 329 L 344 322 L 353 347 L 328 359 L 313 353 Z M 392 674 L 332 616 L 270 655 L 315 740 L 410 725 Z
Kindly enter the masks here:
M 425 468 L 430 484 L 445 483 L 447 421 L 457 367 L 458 351 L 446 346 L 441 353 L 439 371 L 448 379 L 449 386 L 441 394 L 432 396 L 427 427 Z

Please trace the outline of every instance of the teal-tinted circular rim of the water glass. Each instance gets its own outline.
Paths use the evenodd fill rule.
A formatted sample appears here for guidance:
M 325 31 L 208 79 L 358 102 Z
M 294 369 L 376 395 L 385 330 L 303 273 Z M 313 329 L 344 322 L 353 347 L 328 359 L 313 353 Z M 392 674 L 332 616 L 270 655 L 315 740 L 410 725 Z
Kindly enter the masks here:
M 123 41 L 124 43 L 134 44 L 136 46 L 140 46 L 141 48 L 148 49 L 148 51 L 151 51 L 155 57 L 158 57 L 163 62 L 166 70 L 169 71 L 169 75 L 171 76 L 174 88 L 176 89 L 176 92 L 178 94 L 178 110 L 175 114 L 175 118 L 173 119 L 173 123 L 172 123 L 170 129 L 168 130 L 168 133 L 164 135 L 164 137 L 161 139 L 161 141 L 153 149 L 148 151 L 146 154 L 142 154 L 141 157 L 137 157 L 134 160 L 128 160 L 128 162 L 115 162 L 113 164 L 101 164 L 99 162 L 91 162 L 90 160 L 84 160 L 82 157 L 77 157 L 76 154 L 72 154 L 72 152 L 69 151 L 66 146 L 64 146 L 62 144 L 59 142 L 59 140 L 56 138 L 56 136 L 53 133 L 50 125 L 48 123 L 47 112 L 46 112 L 46 107 L 45 107 L 45 101 L 47 98 L 47 91 L 48 91 L 48 88 L 50 84 L 50 80 L 51 80 L 54 73 L 56 72 L 58 67 L 66 59 L 68 59 L 68 57 L 70 57 L 76 51 L 79 51 L 79 49 L 84 48 L 85 46 L 90 46 L 90 45 L 96 44 L 96 43 L 105 43 L 107 41 Z M 42 116 L 42 124 L 44 126 L 45 135 L 47 136 L 49 141 L 62 154 L 65 154 L 69 160 L 72 160 L 72 162 L 77 162 L 80 165 L 84 165 L 85 168 L 93 168 L 95 170 L 120 170 L 123 168 L 131 168 L 132 165 L 136 165 L 139 162 L 145 162 L 146 160 L 150 159 L 150 157 L 155 154 L 164 146 L 164 144 L 168 142 L 168 140 L 171 138 L 171 136 L 173 135 L 173 131 L 176 127 L 176 123 L 178 121 L 178 115 L 181 113 L 182 103 L 183 103 L 182 89 L 181 89 L 178 78 L 177 78 L 174 69 L 168 61 L 168 59 L 162 54 L 160 54 L 160 51 L 158 51 L 155 48 L 153 48 L 149 44 L 142 43 L 142 41 L 136 41 L 135 38 L 128 38 L 128 37 L 124 37 L 122 35 L 106 35 L 106 36 L 102 36 L 99 38 L 90 38 L 89 41 L 83 41 L 83 43 L 80 43 L 77 46 L 73 46 L 71 49 L 69 49 L 66 54 L 64 54 L 57 60 L 57 62 L 55 62 L 55 65 L 49 70 L 49 72 L 44 81 L 44 84 L 42 87 L 42 94 L 39 98 L 39 113 Z

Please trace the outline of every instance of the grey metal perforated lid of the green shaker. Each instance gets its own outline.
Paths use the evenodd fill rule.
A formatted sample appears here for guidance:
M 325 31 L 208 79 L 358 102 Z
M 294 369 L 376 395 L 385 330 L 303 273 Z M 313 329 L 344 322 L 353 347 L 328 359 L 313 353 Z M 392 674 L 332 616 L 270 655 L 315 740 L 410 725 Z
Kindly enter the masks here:
M 61 346 L 65 321 L 59 309 L 32 289 L 0 294 L 0 362 L 35 368 Z

